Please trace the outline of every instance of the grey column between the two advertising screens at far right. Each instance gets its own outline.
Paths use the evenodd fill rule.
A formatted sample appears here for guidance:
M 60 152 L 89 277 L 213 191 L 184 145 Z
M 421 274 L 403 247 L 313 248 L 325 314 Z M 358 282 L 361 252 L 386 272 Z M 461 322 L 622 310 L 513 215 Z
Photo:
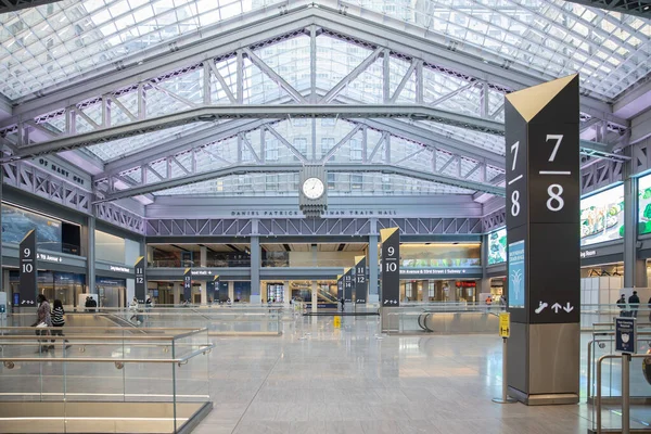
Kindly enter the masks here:
M 633 146 L 626 148 L 630 156 Z M 633 177 L 633 162 L 624 164 L 624 288 L 647 286 L 647 264 L 638 252 L 638 178 Z M 630 228 L 630 229 L 629 229 Z

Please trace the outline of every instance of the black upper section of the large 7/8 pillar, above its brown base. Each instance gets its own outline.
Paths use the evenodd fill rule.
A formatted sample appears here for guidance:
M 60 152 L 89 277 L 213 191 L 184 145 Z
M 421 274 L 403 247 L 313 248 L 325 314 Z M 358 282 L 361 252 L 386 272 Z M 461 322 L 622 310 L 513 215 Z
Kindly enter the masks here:
M 526 270 L 509 277 L 513 322 L 579 319 L 578 107 L 577 76 L 506 95 L 508 268 Z

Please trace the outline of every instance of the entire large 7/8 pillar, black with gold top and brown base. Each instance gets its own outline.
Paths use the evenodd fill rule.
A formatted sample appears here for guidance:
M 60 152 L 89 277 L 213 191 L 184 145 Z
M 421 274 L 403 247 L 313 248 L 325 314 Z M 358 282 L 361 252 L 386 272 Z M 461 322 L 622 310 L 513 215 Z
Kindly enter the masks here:
M 578 403 L 578 75 L 506 97 L 509 394 Z

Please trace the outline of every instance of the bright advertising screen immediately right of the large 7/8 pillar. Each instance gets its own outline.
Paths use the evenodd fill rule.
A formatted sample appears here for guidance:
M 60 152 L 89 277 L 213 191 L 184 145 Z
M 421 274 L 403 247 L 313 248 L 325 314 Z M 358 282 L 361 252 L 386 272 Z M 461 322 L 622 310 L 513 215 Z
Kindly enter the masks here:
M 624 186 L 580 200 L 580 245 L 624 237 Z

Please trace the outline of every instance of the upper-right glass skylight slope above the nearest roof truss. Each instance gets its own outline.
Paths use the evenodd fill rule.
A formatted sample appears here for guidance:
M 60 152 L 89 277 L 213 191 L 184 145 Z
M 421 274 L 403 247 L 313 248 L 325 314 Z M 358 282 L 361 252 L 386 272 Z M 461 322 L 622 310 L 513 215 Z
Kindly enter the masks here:
M 478 47 L 515 69 L 554 77 L 579 72 L 584 88 L 608 98 L 651 71 L 651 21 L 618 12 L 563 0 L 348 3 Z

